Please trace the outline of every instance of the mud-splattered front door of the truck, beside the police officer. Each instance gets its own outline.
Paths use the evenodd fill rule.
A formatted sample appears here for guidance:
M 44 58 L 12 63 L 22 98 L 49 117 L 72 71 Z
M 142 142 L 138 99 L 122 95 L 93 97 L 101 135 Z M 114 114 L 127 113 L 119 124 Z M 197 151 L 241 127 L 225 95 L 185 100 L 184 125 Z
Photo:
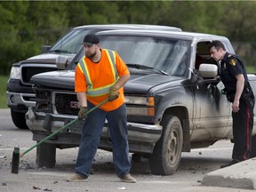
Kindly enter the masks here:
M 200 56 L 204 59 L 204 63 L 205 60 L 208 60 L 206 62 L 212 62 L 209 58 L 207 44 L 201 42 L 197 44 L 198 47 L 200 49 L 197 54 L 201 53 Z M 195 98 L 193 109 L 194 130 L 191 134 L 191 140 L 216 140 L 225 138 L 230 134 L 231 127 L 228 124 L 228 118 L 231 115 L 230 103 L 226 95 L 219 92 L 218 83 L 218 80 L 202 78 L 192 87 L 193 97 Z M 200 138 L 198 138 L 199 135 Z

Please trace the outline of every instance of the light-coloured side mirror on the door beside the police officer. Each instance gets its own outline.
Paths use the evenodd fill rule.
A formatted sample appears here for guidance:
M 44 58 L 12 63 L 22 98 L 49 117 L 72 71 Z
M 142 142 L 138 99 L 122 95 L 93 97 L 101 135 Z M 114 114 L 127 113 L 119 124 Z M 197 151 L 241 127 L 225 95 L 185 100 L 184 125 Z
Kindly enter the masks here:
M 202 63 L 199 66 L 199 75 L 203 78 L 214 78 L 218 75 L 218 67 L 214 64 Z

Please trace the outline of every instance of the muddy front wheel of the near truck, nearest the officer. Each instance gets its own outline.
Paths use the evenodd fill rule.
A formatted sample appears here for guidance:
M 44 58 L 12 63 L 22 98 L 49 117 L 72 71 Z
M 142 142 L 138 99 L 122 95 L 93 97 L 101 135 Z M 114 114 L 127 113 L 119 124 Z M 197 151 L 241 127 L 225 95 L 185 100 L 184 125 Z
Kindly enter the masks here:
M 172 175 L 180 164 L 183 132 L 177 116 L 164 116 L 163 132 L 156 142 L 153 154 L 149 156 L 151 172 L 156 175 Z

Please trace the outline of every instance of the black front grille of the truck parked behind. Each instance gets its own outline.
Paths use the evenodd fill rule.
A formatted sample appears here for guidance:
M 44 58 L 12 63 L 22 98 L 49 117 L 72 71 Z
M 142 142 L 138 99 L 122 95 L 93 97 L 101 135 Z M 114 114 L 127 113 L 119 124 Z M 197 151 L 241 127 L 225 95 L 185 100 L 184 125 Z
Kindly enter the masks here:
M 42 64 L 38 64 L 39 66 L 31 66 L 31 65 L 28 65 L 28 66 L 22 66 L 21 67 L 21 81 L 22 81 L 22 84 L 30 84 L 29 81 L 30 81 L 30 78 L 36 74 L 39 74 L 39 73 L 44 73 L 44 72 L 48 72 L 48 71 L 55 71 L 57 70 L 57 68 L 53 68 L 52 66 L 51 67 L 40 67 L 40 65 Z

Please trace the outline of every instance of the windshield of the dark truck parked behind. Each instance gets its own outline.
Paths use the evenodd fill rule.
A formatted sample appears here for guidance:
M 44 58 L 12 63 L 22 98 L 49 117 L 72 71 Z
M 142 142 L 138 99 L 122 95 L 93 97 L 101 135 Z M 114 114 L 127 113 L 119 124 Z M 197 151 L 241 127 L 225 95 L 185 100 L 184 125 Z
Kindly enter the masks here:
M 76 53 L 82 47 L 84 36 L 88 33 L 95 33 L 100 29 L 92 28 L 76 28 L 68 32 L 63 36 L 56 44 L 54 44 L 50 52 L 67 52 Z M 102 30 L 102 29 L 101 29 Z

